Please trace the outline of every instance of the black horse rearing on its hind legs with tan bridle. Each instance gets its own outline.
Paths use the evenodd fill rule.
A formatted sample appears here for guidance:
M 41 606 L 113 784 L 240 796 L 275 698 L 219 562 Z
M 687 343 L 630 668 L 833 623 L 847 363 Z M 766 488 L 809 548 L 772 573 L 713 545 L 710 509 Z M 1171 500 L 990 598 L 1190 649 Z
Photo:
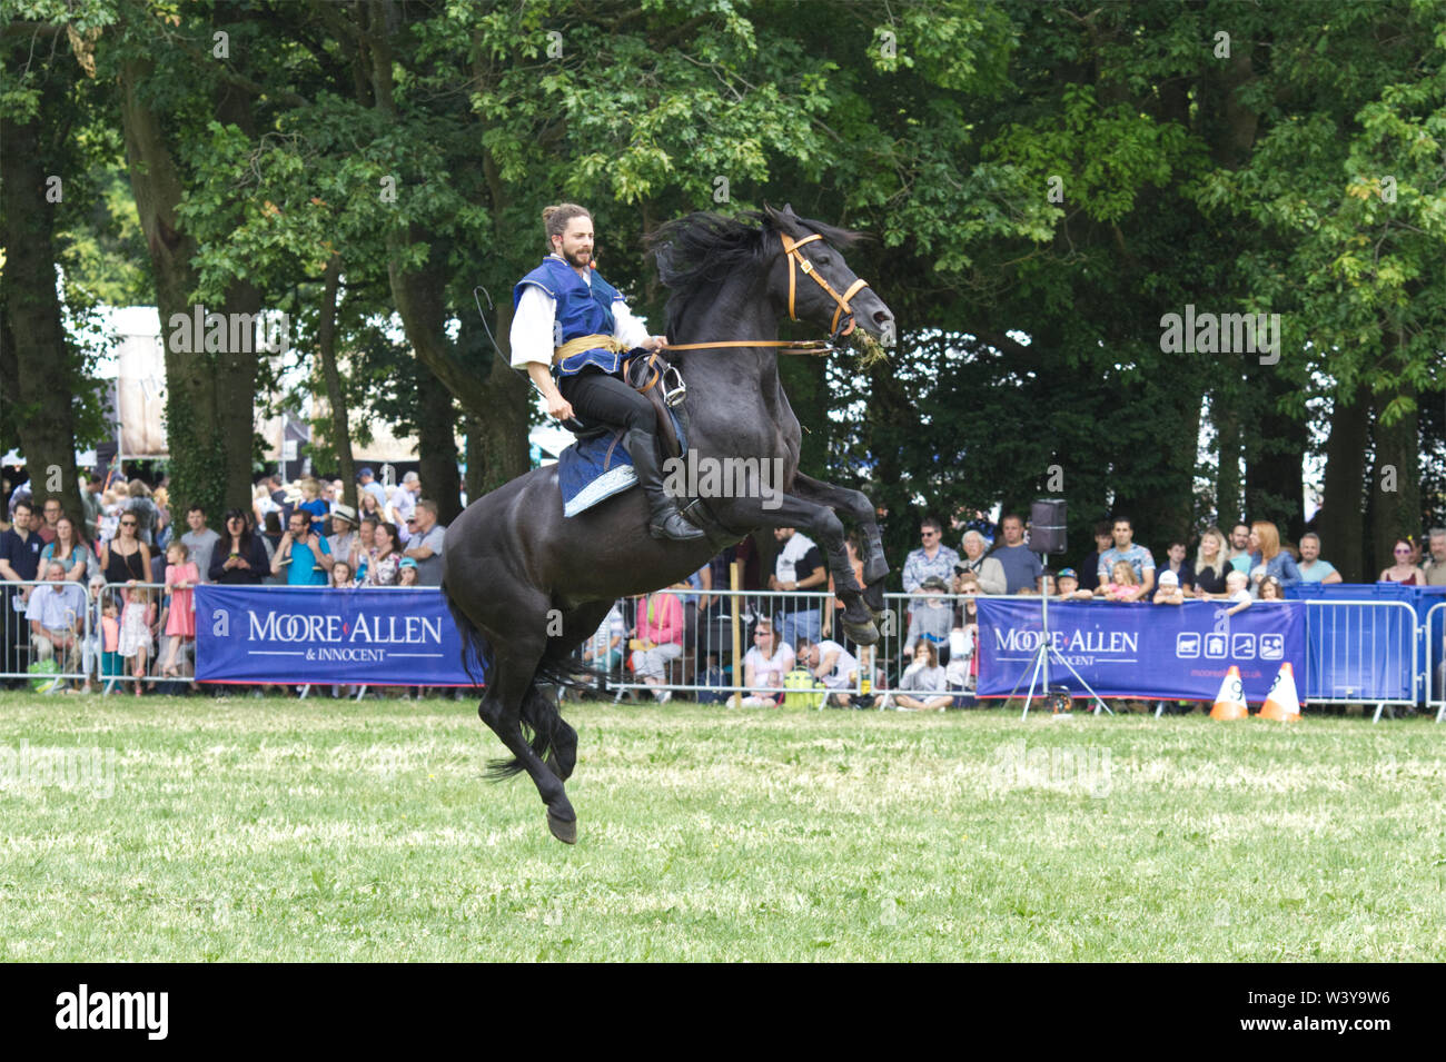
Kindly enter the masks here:
M 836 337 L 856 322 L 891 345 L 894 315 L 839 253 L 856 237 L 801 220 L 791 207 L 665 224 L 649 244 L 672 292 L 669 344 L 777 341 L 788 314 L 826 324 Z M 714 527 L 711 542 L 659 540 L 646 532 L 648 503 L 636 490 L 564 517 L 557 471 L 548 467 L 477 498 L 447 529 L 442 587 L 463 634 L 463 662 L 474 655 L 486 665 L 477 714 L 513 756 L 495 763 L 495 774 L 525 770 L 547 805 L 548 826 L 568 844 L 577 839 L 577 816 L 562 783 L 577 761 L 577 731 L 562 721 L 551 686 L 580 679 L 573 653 L 617 598 L 684 579 L 717 553 L 724 535 L 737 542 L 756 529 L 797 527 L 827 556 L 844 630 L 862 644 L 878 640 L 873 620 L 884 610 L 889 568 L 873 504 L 798 472 L 798 419 L 778 379 L 778 348 L 719 345 L 672 360 L 687 379 L 688 448 L 698 459 L 781 458 L 782 481 L 774 484 L 781 497 L 769 490 L 706 498 L 722 533 Z M 853 577 L 834 510 L 863 532 L 865 587 Z

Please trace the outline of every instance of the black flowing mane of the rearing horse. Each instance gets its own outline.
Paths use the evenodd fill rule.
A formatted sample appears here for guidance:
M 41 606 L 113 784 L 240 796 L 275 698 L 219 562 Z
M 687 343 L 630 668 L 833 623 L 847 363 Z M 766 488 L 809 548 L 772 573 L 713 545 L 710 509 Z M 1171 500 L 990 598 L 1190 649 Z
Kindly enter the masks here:
M 862 236 L 811 218 L 794 220 L 839 250 Z M 646 243 L 658 263 L 658 277 L 672 292 L 667 306 L 668 334 L 674 334 L 696 301 L 711 299 L 724 279 L 766 269 L 779 249 L 765 237 L 777 231 L 771 217 L 750 210 L 733 217 L 694 211 L 651 233 Z

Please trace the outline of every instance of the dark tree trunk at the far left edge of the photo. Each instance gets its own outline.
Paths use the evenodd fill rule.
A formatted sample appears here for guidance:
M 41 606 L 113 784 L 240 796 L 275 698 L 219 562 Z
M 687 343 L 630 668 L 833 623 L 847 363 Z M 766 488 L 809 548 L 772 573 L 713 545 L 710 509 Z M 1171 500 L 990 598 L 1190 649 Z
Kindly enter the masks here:
M 0 314 L 0 377 L 14 387 L 9 416 L 30 472 L 36 511 L 46 498 L 59 498 L 65 513 L 84 527 L 75 481 L 75 425 L 71 399 L 78 390 L 77 353 L 61 324 L 55 292 L 55 211 L 46 202 L 46 176 L 65 170 L 48 165 L 48 146 L 64 133 L 48 129 L 46 114 L 58 114 L 51 72 L 38 116 L 26 124 L 0 121 L 0 215 L 4 234 L 4 298 Z M 54 123 L 52 123 L 54 124 Z M 62 185 L 64 189 L 64 185 Z M 62 191 L 64 194 L 64 191 Z

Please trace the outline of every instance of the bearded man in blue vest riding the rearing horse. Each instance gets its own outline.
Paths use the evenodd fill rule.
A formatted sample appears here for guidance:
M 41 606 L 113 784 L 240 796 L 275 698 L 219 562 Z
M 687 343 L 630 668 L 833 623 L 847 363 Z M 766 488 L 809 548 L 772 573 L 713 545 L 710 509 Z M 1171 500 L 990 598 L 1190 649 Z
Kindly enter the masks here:
M 664 491 L 652 403 L 623 379 L 628 351 L 655 351 L 668 341 L 648 335 L 617 289 L 596 272 L 593 215 L 586 208 L 548 207 L 542 225 L 552 253 L 512 289 L 512 367 L 526 368 L 547 399 L 548 416 L 580 415 L 625 431 L 623 446 L 652 510 L 652 538 L 701 539 Z

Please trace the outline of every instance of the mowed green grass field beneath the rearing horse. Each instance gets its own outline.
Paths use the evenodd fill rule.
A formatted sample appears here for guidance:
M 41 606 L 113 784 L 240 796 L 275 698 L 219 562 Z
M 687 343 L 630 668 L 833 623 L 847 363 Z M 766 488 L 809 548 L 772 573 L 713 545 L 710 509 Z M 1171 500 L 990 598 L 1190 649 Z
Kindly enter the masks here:
M 473 704 L 3 694 L 116 776 L 0 787 L 0 957 L 1446 958 L 1426 720 L 567 717 L 571 848 Z

